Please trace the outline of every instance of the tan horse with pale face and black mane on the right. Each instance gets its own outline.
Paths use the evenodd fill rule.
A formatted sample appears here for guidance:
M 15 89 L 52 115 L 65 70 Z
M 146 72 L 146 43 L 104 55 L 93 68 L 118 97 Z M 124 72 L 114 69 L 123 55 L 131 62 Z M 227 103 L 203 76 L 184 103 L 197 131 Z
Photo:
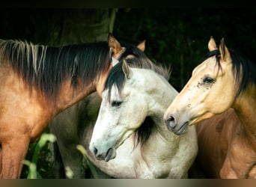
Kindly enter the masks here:
M 220 177 L 256 178 L 256 64 L 228 49 L 223 39 L 218 49 L 211 37 L 208 47 L 206 58 L 165 111 L 165 123 L 180 135 L 187 126 L 225 112 L 227 118 L 217 117 L 209 129 L 205 122 L 198 127 L 199 141 L 204 141 L 199 142 L 199 152 L 207 142 L 215 141 L 205 156 L 213 151 L 211 156 L 225 157 Z

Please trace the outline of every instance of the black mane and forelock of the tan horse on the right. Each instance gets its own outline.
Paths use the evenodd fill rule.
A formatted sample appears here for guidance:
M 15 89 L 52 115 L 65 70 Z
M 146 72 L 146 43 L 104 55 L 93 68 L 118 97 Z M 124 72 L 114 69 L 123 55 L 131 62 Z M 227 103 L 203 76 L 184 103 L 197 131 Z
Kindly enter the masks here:
M 242 76 L 237 96 L 240 95 L 246 88 L 251 85 L 256 85 L 256 64 L 251 61 L 249 58 L 245 58 L 242 55 L 239 55 L 237 52 L 234 52 L 232 49 L 228 49 L 232 59 L 232 71 L 234 75 L 234 80 L 236 83 L 239 82 L 240 76 Z M 212 52 L 208 52 L 207 55 L 202 58 L 201 62 L 205 61 L 207 58 L 212 56 L 216 57 L 216 64 L 218 64 L 219 70 L 222 69 L 220 64 L 220 52 L 219 49 L 216 49 Z M 242 75 L 240 75 L 242 70 Z

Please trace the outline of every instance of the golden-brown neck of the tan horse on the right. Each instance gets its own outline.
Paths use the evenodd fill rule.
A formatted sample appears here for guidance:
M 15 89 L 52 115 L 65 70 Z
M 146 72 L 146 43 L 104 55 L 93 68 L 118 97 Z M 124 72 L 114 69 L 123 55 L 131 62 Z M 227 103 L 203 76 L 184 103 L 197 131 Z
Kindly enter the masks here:
M 246 91 L 241 93 L 234 102 L 233 108 L 243 124 L 246 134 L 251 138 L 251 142 L 256 149 L 256 87 L 249 86 Z

